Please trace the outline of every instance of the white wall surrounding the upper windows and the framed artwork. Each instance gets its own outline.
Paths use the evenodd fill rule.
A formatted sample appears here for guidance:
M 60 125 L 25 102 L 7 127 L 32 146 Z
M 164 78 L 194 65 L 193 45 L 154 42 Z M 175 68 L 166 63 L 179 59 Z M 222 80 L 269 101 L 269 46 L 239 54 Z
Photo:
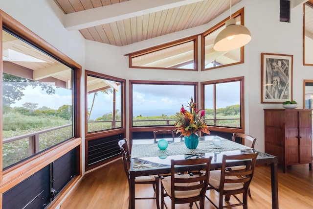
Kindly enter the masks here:
M 124 54 L 202 33 L 224 20 L 224 18 L 229 15 L 229 11 L 226 11 L 220 17 L 206 25 L 128 46 L 116 47 L 87 42 L 87 69 L 126 79 L 127 92 L 128 81 L 131 79 L 193 80 L 201 82 L 226 77 L 245 76 L 246 133 L 256 137 L 257 142 L 255 148 L 264 151 L 263 109 L 282 108 L 282 105 L 261 103 L 261 53 L 293 55 L 293 100 L 298 102 L 299 108 L 303 107 L 303 80 L 313 79 L 313 69 L 312 67 L 302 65 L 302 4 L 292 8 L 291 23 L 279 22 L 278 0 L 242 0 L 232 7 L 232 12 L 242 7 L 245 7 L 245 25 L 250 30 L 252 36 L 251 42 L 245 47 L 244 64 L 203 72 L 179 71 L 179 73 L 177 70 L 143 70 L 128 68 L 128 57 L 124 56 Z M 95 61 L 92 55 L 94 53 L 99 53 L 96 56 L 99 58 L 102 57 L 102 60 L 97 59 L 97 61 Z M 103 58 L 104 56 L 105 58 Z M 129 98 L 127 95 L 127 104 L 128 103 Z M 127 118 L 127 122 L 128 121 Z

